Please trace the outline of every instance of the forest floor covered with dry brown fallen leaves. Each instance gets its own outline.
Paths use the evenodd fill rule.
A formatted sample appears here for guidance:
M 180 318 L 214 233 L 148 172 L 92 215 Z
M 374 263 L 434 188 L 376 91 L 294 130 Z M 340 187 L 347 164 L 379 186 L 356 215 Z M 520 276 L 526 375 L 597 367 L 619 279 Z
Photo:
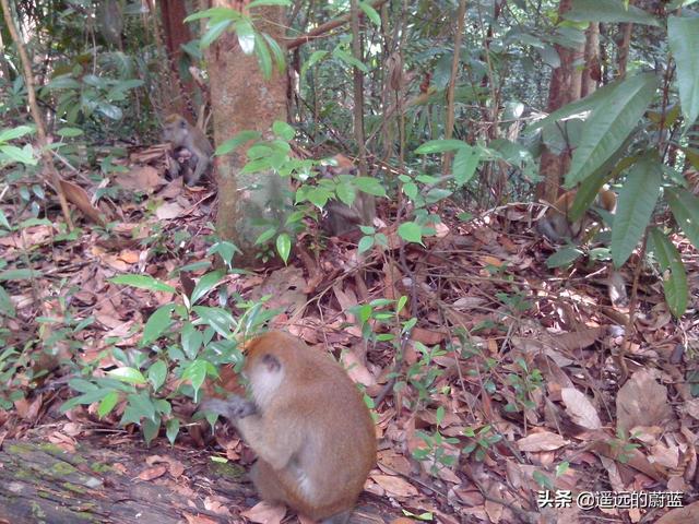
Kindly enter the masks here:
M 138 347 L 153 311 L 181 301 L 179 293 L 109 278 L 149 274 L 181 290 L 187 278 L 178 270 L 208 259 L 215 192 L 166 182 L 146 164 L 157 158 L 140 153 L 135 167 L 117 176 L 144 196 L 103 201 L 119 223 L 109 235 L 87 221 L 79 235 L 36 221 L 0 238 L 4 336 L 17 348 L 0 349 L 0 397 L 12 400 L 0 407 L 0 445 L 43 441 L 73 453 L 88 442 L 120 453 L 108 462 L 122 464 L 128 478 L 165 483 L 191 501 L 180 515 L 187 522 L 281 522 L 283 513 L 256 505 L 249 487 L 226 498 L 212 495 L 215 483 L 202 484 L 211 438 L 180 432 L 165 450 L 162 436 L 149 450 L 137 427 L 119 426 L 122 405 L 102 419 L 95 405 L 59 412 L 75 394 L 70 367 L 57 367 L 61 360 L 104 374 L 117 364 L 106 348 Z M 78 187 L 71 191 L 88 215 L 88 199 Z M 379 205 L 384 219 L 388 207 Z M 20 210 L 2 211 L 12 223 L 25 218 Z M 400 248 L 388 226 L 389 247 L 363 257 L 355 243 L 323 239 L 309 227 L 288 265 L 222 283 L 227 296 L 271 297 L 265 308 L 281 311 L 272 326 L 333 350 L 372 397 L 390 380 L 395 346 L 366 343 L 353 308 L 408 297 L 400 321 L 418 321 L 402 345 L 406 384 L 376 406 L 378 464 L 360 499 L 383 516 L 362 522 L 699 522 L 697 252 L 675 239 L 691 295 L 689 312 L 674 319 L 659 275 L 640 271 L 632 285 L 638 257 L 621 270 L 628 299 L 612 303 L 604 263 L 547 267 L 555 248 L 531 233 L 532 209 L 503 206 L 467 223 L 445 218 L 460 211 L 442 209 L 443 225 L 425 246 Z M 380 319 L 372 326 L 392 329 Z M 45 347 L 57 356 L 48 358 Z M 193 406 L 179 398 L 174 409 L 187 417 Z M 235 433 L 215 439 L 232 464 L 252 462 Z M 0 468 L 8 461 L 0 455 Z

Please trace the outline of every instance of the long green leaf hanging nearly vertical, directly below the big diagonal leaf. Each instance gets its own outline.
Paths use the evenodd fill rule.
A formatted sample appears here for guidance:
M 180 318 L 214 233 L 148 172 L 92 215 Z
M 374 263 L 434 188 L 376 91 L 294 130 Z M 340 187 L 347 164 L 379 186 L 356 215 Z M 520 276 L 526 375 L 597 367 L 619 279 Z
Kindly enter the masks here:
M 663 166 L 651 155 L 630 170 L 619 191 L 619 203 L 612 228 L 612 261 L 616 267 L 633 252 L 655 209 Z

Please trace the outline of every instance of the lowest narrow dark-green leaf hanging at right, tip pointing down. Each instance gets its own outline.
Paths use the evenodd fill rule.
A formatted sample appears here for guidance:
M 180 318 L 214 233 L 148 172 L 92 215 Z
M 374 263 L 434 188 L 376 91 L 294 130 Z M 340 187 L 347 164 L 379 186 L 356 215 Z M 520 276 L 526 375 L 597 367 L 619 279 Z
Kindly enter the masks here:
M 687 310 L 689 297 L 685 265 L 682 263 L 682 257 L 677 248 L 660 229 L 651 228 L 650 239 L 653 252 L 663 272 L 663 290 L 665 291 L 667 307 L 675 318 L 679 318 Z

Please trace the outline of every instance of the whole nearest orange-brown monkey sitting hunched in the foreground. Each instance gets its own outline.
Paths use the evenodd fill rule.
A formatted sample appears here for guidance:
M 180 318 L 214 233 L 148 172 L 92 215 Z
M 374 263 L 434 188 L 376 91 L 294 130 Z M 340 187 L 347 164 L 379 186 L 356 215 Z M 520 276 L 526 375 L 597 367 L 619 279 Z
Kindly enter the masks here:
M 283 332 L 253 338 L 244 374 L 251 400 L 210 398 L 258 461 L 258 493 L 325 524 L 346 523 L 376 462 L 369 409 L 342 366 Z

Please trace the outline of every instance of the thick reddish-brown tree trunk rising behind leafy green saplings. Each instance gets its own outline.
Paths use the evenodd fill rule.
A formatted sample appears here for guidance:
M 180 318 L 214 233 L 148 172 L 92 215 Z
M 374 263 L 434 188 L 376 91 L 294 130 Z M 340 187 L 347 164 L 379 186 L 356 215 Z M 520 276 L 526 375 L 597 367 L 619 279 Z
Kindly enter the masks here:
M 216 0 L 214 7 L 240 9 L 240 1 Z M 245 2 L 248 3 L 248 2 Z M 281 7 L 256 8 L 256 27 L 282 40 L 285 11 Z M 240 131 L 254 130 L 271 138 L 272 123 L 287 120 L 286 74 L 274 68 L 265 80 L 254 55 L 245 55 L 235 33 L 224 33 L 209 49 L 211 106 L 214 116 L 216 144 L 234 138 Z M 222 239 L 234 242 L 242 257 L 236 265 L 256 263 L 254 241 L 265 226 L 258 221 L 282 222 L 284 183 L 274 172 L 241 174 L 247 146 L 229 155 L 216 157 L 218 213 L 216 231 Z

